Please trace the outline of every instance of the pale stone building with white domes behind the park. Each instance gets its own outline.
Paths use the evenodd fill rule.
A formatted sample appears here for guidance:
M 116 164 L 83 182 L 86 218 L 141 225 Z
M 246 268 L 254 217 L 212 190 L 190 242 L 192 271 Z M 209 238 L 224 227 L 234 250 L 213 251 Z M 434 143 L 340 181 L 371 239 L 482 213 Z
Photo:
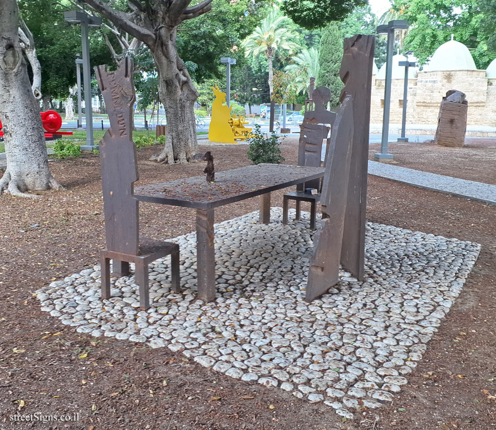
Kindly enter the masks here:
M 389 122 L 401 124 L 405 68 L 398 64 L 405 56 L 393 56 Z M 415 61 L 410 56 L 408 61 Z M 371 123 L 382 123 L 386 67 L 372 77 Z M 407 124 L 437 124 L 439 105 L 446 91 L 466 94 L 467 124 L 496 127 L 496 59 L 486 70 L 479 70 L 469 49 L 450 40 L 437 48 L 423 70 L 411 67 L 408 75 Z M 408 126 L 407 126 L 408 129 Z M 427 127 L 426 129 L 429 129 Z M 432 128 L 430 128 L 432 129 Z

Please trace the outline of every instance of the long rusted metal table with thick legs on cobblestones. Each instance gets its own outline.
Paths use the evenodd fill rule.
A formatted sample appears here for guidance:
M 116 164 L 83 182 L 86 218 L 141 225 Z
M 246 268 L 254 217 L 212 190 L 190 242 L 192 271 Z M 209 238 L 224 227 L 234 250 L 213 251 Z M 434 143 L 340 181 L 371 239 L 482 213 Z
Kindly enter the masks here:
M 260 196 L 260 222 L 270 222 L 270 192 L 324 176 L 320 167 L 258 164 L 215 173 L 213 184 L 205 176 L 137 187 L 139 201 L 196 209 L 198 298 L 215 299 L 214 209 Z

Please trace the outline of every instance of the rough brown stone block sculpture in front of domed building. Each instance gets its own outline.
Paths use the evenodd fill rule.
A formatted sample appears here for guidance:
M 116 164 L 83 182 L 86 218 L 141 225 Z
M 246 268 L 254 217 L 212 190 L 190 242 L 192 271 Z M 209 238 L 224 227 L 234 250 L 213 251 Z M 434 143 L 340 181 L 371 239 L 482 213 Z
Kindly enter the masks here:
M 442 98 L 437 117 L 437 129 L 434 142 L 441 146 L 461 147 L 465 142 L 467 131 L 468 102 L 465 94 L 449 90 Z

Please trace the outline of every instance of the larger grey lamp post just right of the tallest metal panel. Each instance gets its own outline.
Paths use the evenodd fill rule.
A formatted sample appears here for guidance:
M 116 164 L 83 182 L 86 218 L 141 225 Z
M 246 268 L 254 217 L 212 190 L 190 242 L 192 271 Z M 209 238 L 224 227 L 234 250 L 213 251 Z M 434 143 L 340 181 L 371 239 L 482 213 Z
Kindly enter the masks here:
M 387 153 L 387 140 L 389 137 L 389 108 L 391 103 L 391 78 L 393 72 L 393 48 L 394 31 L 408 28 L 408 21 L 405 19 L 394 19 L 387 24 L 377 27 L 377 34 L 387 34 L 387 54 L 386 54 L 386 78 L 384 82 L 384 110 L 382 114 L 382 136 L 380 152 L 374 154 L 378 161 L 391 161 L 393 154 Z

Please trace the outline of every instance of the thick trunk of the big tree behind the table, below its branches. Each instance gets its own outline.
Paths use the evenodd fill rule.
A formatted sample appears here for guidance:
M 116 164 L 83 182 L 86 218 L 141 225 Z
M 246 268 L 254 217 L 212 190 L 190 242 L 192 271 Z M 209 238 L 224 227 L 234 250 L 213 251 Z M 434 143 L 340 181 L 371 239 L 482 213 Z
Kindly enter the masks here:
M 159 97 L 165 107 L 167 134 L 162 152 L 152 157 L 159 163 L 187 163 L 198 152 L 194 102 L 198 92 L 176 47 L 177 28 L 163 26 L 151 49 L 158 69 Z

